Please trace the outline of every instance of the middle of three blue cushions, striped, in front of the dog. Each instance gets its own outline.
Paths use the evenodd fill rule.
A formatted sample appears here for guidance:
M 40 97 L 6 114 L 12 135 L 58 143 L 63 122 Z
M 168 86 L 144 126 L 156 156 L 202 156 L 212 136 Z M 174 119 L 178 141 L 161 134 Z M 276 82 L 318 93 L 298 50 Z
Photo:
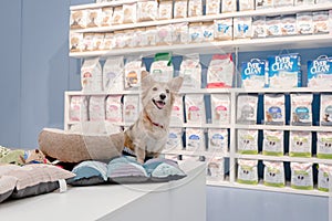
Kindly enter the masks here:
M 107 177 L 111 182 L 135 183 L 148 180 L 144 167 L 134 157 L 123 156 L 110 161 Z

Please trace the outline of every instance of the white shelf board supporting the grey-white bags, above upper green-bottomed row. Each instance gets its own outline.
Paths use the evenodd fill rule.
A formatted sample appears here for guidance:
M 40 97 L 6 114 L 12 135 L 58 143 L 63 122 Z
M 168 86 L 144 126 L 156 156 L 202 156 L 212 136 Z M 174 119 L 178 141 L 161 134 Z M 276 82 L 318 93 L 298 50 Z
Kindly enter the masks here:
M 297 131 L 332 131 L 331 126 L 290 126 L 290 125 L 240 125 L 236 129 L 267 129 L 267 130 L 297 130 Z

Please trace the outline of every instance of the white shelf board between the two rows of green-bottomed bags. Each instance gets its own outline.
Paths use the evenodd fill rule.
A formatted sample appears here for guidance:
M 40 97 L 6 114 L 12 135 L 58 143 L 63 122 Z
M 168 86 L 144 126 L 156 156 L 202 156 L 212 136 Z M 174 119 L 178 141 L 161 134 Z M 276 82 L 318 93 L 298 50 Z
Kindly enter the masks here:
M 311 164 L 332 164 L 332 159 L 319 159 L 315 156 L 313 157 L 289 157 L 284 156 L 266 156 L 266 155 L 241 155 L 236 154 L 235 158 L 237 159 L 258 159 L 258 160 L 270 160 L 270 161 L 290 161 L 290 162 L 311 162 Z

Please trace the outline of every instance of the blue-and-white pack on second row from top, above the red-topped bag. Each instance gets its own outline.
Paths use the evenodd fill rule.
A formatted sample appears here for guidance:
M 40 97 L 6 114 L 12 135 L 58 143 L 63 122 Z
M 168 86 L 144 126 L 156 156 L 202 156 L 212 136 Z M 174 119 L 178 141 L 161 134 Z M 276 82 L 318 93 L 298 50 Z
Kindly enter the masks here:
M 232 18 L 215 20 L 215 39 L 232 40 Z

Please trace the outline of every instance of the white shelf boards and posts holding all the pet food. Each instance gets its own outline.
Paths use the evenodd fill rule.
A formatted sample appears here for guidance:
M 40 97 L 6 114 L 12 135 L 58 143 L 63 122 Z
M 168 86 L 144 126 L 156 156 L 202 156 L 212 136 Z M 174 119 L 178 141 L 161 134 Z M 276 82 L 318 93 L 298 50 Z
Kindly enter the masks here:
M 136 1 L 116 1 L 110 3 L 92 3 L 83 6 L 73 6 L 71 10 L 84 10 L 84 9 L 95 9 L 103 7 L 115 7 L 124 3 L 133 3 Z M 131 24 L 120 24 L 108 28 L 93 28 L 93 29 L 80 29 L 71 30 L 71 32 L 112 32 L 115 30 L 124 29 L 134 29 L 139 27 L 153 27 L 162 25 L 169 23 L 179 23 L 179 22 L 200 22 L 200 21 L 212 21 L 215 19 L 226 19 L 226 18 L 239 18 L 239 17 L 257 17 L 257 15 L 280 15 L 280 14 L 295 14 L 298 12 L 305 11 L 321 11 L 321 10 L 331 10 L 332 3 L 326 4 L 314 4 L 308 7 L 287 7 L 276 9 L 264 9 L 256 11 L 243 11 L 243 12 L 234 12 L 234 13 L 222 13 L 217 15 L 203 15 L 195 18 L 186 19 L 173 19 L 166 21 L 149 21 L 149 22 L 137 22 Z M 71 57 L 85 59 L 91 56 L 107 57 L 113 55 L 151 55 L 157 52 L 173 52 L 174 54 L 189 54 L 189 53 L 200 53 L 200 54 L 212 54 L 222 52 L 251 52 L 251 51 L 269 51 L 278 49 L 315 49 L 315 48 L 329 48 L 332 46 L 332 33 L 331 34 L 320 34 L 320 35 L 294 35 L 294 36 L 280 36 L 280 38 L 266 38 L 266 39 L 243 39 L 243 40 L 232 40 L 232 41 L 218 41 L 218 42 L 205 42 L 205 43 L 195 43 L 195 44 L 180 44 L 180 45 L 162 45 L 162 46 L 148 46 L 148 48 L 135 48 L 135 49 L 116 49 L 111 51 L 95 51 L 95 52 L 71 52 Z M 295 161 L 295 162 L 312 162 L 312 164 L 330 164 L 332 165 L 332 159 L 319 159 L 315 156 L 311 158 L 300 158 L 300 157 L 289 157 L 286 152 L 284 156 L 273 157 L 264 156 L 261 154 L 258 155 L 240 155 L 237 152 L 237 130 L 238 129 L 280 129 L 280 130 L 305 130 L 305 131 L 332 131 L 332 127 L 321 127 L 321 126 L 273 126 L 273 125 L 241 125 L 236 122 L 236 105 L 237 96 L 239 94 L 271 94 L 271 93 L 311 93 L 311 94 L 321 94 L 321 93 L 332 93 L 331 90 L 321 90 L 321 88 L 290 88 L 290 90 L 276 90 L 276 88 L 263 88 L 263 90 L 243 90 L 243 88 L 220 88 L 220 90 L 196 90 L 196 91 L 181 91 L 180 94 L 228 94 L 230 97 L 230 123 L 227 125 L 212 125 L 212 124 L 203 124 L 203 125 L 170 125 L 174 127 L 198 127 L 198 128 L 226 128 L 230 133 L 229 139 L 229 150 L 227 152 L 210 152 L 210 151 L 188 151 L 188 150 L 165 150 L 164 154 L 167 155 L 186 155 L 186 156 L 206 156 L 206 157 L 222 157 L 228 158 L 228 168 L 229 175 L 225 177 L 224 180 L 218 181 L 207 181 L 209 186 L 221 186 L 221 187 L 234 187 L 234 188 L 247 188 L 255 190 L 268 190 L 276 192 L 287 192 L 287 193 L 300 193 L 300 194 L 313 194 L 313 196 L 324 196 L 328 193 L 318 191 L 318 190 L 297 190 L 290 188 L 289 185 L 284 188 L 273 188 L 266 187 L 262 183 L 251 186 L 251 185 L 240 185 L 236 182 L 236 166 L 237 159 L 258 159 L 258 160 L 274 160 L 274 161 Z M 69 129 L 74 122 L 69 119 L 69 108 L 71 96 L 81 95 L 81 96 L 91 96 L 91 95 L 126 95 L 126 94 L 136 94 L 139 95 L 137 91 L 124 91 L 124 92 L 98 92 L 98 93 L 83 93 L 83 92 L 66 92 L 65 93 L 65 107 L 64 107 L 64 128 Z M 120 126 L 128 126 L 126 124 L 120 124 Z

